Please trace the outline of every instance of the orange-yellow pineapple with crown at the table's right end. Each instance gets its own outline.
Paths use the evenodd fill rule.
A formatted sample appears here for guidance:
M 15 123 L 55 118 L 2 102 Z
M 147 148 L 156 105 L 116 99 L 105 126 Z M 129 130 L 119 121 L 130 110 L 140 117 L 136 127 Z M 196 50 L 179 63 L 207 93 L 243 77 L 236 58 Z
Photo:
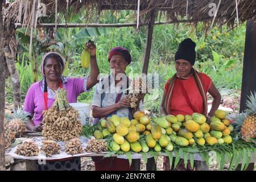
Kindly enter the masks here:
M 236 118 L 235 130 L 240 131 L 241 138 L 246 142 L 251 142 L 256 138 L 256 94 L 251 93 L 249 100 L 246 101 L 246 112 L 241 113 Z

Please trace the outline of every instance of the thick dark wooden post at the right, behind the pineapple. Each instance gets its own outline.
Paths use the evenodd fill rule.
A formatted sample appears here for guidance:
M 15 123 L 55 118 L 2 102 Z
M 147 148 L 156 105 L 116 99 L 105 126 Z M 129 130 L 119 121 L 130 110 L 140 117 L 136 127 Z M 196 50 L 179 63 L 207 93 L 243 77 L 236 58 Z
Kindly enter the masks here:
M 246 23 L 245 56 L 243 57 L 243 76 L 240 112 L 246 109 L 247 96 L 256 92 L 256 22 Z

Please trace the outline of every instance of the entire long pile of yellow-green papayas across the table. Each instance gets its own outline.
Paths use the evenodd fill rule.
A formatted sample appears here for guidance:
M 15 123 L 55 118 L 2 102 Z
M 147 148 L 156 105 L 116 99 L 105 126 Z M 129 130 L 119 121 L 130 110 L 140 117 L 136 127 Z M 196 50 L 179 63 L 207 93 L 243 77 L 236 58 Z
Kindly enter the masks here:
M 233 131 L 226 113 L 216 110 L 214 117 L 207 118 L 203 114 L 163 115 L 148 117 L 143 111 L 137 111 L 131 121 L 117 115 L 101 119 L 101 129 L 94 131 L 96 139 L 112 138 L 109 149 L 112 151 L 148 152 L 154 150 L 172 151 L 175 143 L 179 146 L 198 144 L 232 143 L 230 132 Z

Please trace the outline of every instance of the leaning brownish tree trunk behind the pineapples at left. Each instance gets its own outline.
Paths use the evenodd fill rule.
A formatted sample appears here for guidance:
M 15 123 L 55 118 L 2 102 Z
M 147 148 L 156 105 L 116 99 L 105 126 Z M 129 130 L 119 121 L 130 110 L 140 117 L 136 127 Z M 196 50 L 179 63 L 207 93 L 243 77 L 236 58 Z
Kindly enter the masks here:
M 5 46 L 5 59 L 7 63 L 7 67 L 10 72 L 11 81 L 13 82 L 13 101 L 14 101 L 14 109 L 17 109 L 18 106 L 21 106 L 21 98 L 20 98 L 20 80 L 19 80 L 19 73 L 16 69 L 15 65 L 15 55 L 11 52 L 10 46 Z

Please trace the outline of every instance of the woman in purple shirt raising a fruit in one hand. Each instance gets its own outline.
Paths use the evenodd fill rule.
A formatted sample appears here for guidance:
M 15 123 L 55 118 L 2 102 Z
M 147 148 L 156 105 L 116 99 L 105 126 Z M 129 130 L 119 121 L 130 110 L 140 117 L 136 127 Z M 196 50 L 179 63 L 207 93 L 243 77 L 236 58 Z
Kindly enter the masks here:
M 24 111 L 30 113 L 27 129 L 42 130 L 42 111 L 49 109 L 55 101 L 55 91 L 64 88 L 67 90 L 68 102 L 77 102 L 82 92 L 90 92 L 97 84 L 99 69 L 96 60 L 96 46 L 93 42 L 86 43 L 90 52 L 90 76 L 84 78 L 67 78 L 62 76 L 65 61 L 57 52 L 48 52 L 43 56 L 41 72 L 43 80 L 30 86 L 24 101 Z

